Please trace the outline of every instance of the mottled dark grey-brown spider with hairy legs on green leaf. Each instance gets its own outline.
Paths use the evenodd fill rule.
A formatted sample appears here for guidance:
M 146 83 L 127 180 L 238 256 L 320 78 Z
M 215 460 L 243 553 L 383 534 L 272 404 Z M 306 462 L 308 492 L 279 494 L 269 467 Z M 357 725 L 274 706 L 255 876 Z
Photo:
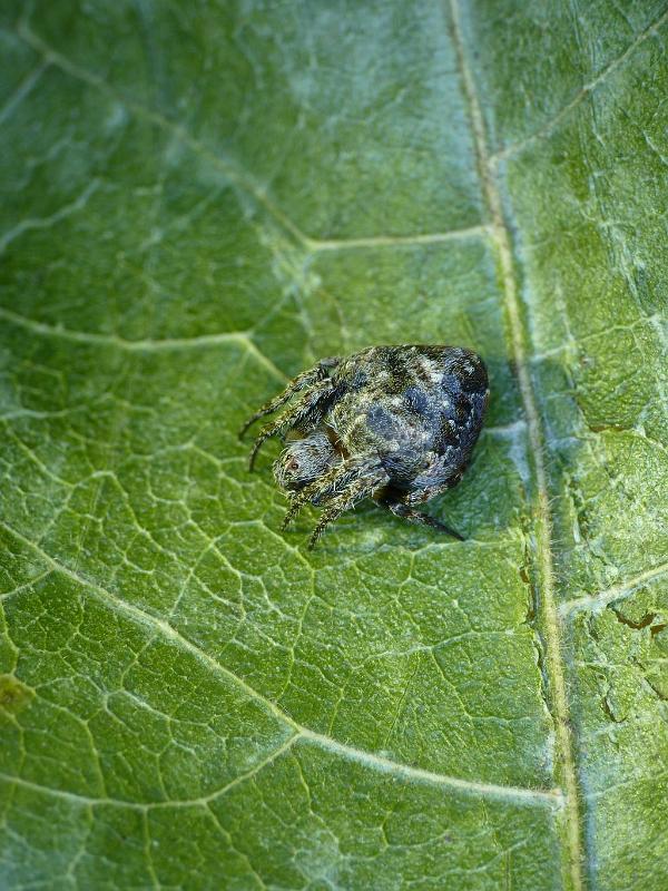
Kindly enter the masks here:
M 323 506 L 308 547 L 325 527 L 373 497 L 397 517 L 462 537 L 415 509 L 462 478 L 489 399 L 483 361 L 463 346 L 371 346 L 323 359 L 302 372 L 244 424 L 283 408 L 263 427 L 263 442 L 286 443 L 274 476 L 292 503 L 283 529 L 307 502 Z

